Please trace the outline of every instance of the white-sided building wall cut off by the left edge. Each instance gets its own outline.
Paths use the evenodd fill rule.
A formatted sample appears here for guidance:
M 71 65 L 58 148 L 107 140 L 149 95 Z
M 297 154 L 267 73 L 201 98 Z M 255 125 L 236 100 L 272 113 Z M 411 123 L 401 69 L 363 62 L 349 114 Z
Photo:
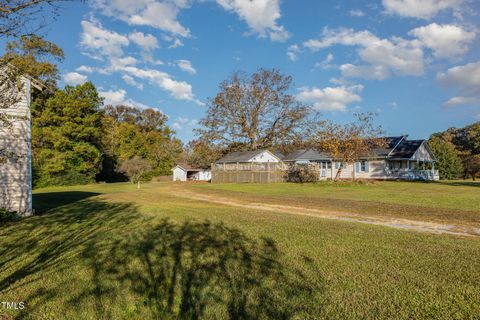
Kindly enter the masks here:
M 0 149 L 14 157 L 0 164 L 0 207 L 22 215 L 32 213 L 30 81 L 22 79 L 18 102 L 0 112 L 9 117 L 0 123 Z M 1 97 L 0 97 L 1 99 Z

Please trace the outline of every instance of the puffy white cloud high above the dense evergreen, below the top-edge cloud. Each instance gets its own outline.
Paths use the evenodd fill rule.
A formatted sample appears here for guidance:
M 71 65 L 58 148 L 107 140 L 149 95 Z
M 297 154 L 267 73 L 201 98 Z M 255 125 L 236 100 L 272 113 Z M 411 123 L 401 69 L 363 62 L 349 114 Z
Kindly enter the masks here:
M 99 22 L 84 20 L 81 25 L 80 45 L 93 58 L 122 56 L 123 47 L 130 43 L 126 36 L 104 29 Z

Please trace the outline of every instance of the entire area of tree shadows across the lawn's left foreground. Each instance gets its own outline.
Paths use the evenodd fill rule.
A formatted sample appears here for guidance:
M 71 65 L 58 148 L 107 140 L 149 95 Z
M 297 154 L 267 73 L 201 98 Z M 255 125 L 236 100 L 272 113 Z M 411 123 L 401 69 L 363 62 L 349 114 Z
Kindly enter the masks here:
M 161 319 L 315 314 L 307 309 L 315 306 L 321 279 L 312 260 L 304 258 L 302 270 L 287 267 L 271 239 L 251 239 L 208 221 L 155 221 L 133 204 L 94 199 L 48 213 L 0 231 L 0 237 L 15 231 L 0 255 L 0 270 L 14 270 L 0 272 L 0 293 L 38 282 L 33 286 L 38 289 L 23 297 L 35 304 L 19 318 L 48 304 L 59 308 L 62 295 L 69 297 L 66 310 L 91 310 L 94 304 L 96 318 L 119 313 Z M 83 277 L 88 280 L 77 278 L 79 269 L 87 270 Z M 315 279 L 307 279 L 306 269 Z M 61 280 L 47 287 L 42 279 L 49 277 Z

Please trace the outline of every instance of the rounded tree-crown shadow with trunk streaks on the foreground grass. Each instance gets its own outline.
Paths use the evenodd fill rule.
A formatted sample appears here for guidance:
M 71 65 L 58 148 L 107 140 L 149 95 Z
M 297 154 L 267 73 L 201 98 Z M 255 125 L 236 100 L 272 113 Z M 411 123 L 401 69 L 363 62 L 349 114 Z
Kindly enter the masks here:
M 148 309 L 153 318 L 305 318 L 318 281 L 287 268 L 280 256 L 271 239 L 256 241 L 208 221 L 168 220 L 117 241 L 102 258 L 94 244 L 84 252 L 96 272 L 98 301 L 112 294 L 109 283 L 119 282 L 137 297 L 136 312 Z M 318 274 L 313 262 L 304 260 Z M 99 317 L 111 316 L 99 311 Z

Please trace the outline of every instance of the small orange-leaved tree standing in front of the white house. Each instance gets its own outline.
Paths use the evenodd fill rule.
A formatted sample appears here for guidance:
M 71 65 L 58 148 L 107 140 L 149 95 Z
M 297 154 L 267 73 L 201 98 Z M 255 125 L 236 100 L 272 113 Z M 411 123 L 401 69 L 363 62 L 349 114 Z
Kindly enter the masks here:
M 315 144 L 341 163 L 334 180 L 340 177 L 345 165 L 362 157 L 370 157 L 375 149 L 386 146 L 386 141 L 380 138 L 382 127 L 373 124 L 374 116 L 374 113 L 358 113 L 354 122 L 345 125 L 321 122 Z

